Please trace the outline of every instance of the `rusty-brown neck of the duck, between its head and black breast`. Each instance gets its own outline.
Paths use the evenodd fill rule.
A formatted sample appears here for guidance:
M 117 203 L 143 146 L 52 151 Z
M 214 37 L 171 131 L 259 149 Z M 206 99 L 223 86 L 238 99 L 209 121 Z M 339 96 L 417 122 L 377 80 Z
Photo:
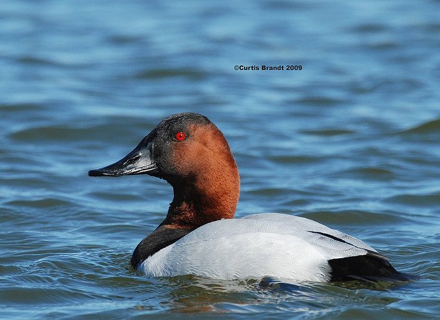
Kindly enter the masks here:
M 234 161 L 233 168 L 209 170 L 184 181 L 169 181 L 174 198 L 161 225 L 195 229 L 223 218 L 234 218 L 239 201 L 240 178 Z

